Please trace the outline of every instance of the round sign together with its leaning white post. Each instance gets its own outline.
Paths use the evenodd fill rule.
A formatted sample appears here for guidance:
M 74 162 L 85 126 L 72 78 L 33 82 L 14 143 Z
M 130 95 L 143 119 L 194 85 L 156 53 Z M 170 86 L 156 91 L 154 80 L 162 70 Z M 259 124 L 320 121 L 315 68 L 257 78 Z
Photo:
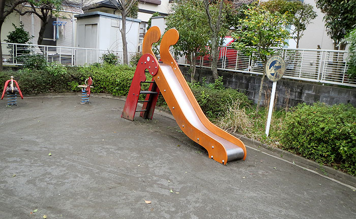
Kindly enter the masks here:
M 266 125 L 266 136 L 270 134 L 271 119 L 273 112 L 273 103 L 275 102 L 277 81 L 279 81 L 285 72 L 285 61 L 279 55 L 271 56 L 264 67 L 265 74 L 270 81 L 273 81 L 270 108 L 268 111 L 267 125 Z

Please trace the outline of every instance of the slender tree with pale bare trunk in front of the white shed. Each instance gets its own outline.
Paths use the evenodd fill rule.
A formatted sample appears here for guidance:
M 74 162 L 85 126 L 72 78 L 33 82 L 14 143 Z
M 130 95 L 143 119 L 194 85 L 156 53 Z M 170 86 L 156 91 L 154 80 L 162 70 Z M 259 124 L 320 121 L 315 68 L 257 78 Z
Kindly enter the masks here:
M 124 64 L 127 65 L 128 54 L 127 54 L 127 40 L 126 40 L 126 18 L 129 17 L 130 15 L 131 17 L 137 17 L 138 0 L 110 0 L 110 2 L 114 4 L 117 7 L 118 12 L 121 13 L 122 27 L 120 29 L 120 32 L 121 32 L 121 39 L 123 41 L 123 61 Z

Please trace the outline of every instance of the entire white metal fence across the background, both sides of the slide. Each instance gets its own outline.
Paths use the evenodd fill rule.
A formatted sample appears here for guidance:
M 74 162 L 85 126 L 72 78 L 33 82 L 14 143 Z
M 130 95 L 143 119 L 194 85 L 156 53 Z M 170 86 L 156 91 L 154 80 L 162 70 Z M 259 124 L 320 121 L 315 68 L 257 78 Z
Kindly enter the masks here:
M 108 52 L 114 53 L 123 63 L 122 51 L 11 43 L 2 43 L 1 46 L 4 65 L 22 65 L 24 57 L 29 54 L 41 55 L 48 62 L 86 65 L 102 62 L 100 58 Z M 135 54 L 128 54 L 129 61 Z M 283 78 L 356 87 L 356 80 L 349 79 L 347 75 L 347 51 L 284 48 L 278 54 L 286 61 Z M 189 65 L 187 57 L 175 56 L 175 59 L 181 65 Z M 198 57 L 195 63 L 198 67 L 206 68 L 212 64 L 208 56 Z M 218 69 L 262 75 L 263 64 L 240 51 L 223 46 L 220 48 Z

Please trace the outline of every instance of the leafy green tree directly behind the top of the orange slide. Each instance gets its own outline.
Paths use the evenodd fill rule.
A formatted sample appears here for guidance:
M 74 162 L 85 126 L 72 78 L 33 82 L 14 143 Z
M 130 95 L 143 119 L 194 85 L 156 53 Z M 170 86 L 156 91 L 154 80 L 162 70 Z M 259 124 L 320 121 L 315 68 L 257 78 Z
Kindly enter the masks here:
M 172 14 L 166 19 L 167 29 L 179 31 L 180 39 L 173 47 L 180 55 L 187 56 L 190 64 L 190 81 L 195 79 L 195 60 L 206 54 L 206 45 L 210 40 L 204 6 L 201 1 L 182 0 L 175 3 Z

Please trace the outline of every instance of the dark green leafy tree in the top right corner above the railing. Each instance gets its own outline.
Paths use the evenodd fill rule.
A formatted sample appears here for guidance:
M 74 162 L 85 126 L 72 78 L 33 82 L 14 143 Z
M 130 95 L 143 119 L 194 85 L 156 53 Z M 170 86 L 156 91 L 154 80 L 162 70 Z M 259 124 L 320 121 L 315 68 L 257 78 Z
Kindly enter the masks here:
M 344 50 L 341 40 L 356 25 L 356 1 L 354 0 L 315 0 L 316 7 L 324 13 L 325 26 L 334 41 L 335 50 Z

